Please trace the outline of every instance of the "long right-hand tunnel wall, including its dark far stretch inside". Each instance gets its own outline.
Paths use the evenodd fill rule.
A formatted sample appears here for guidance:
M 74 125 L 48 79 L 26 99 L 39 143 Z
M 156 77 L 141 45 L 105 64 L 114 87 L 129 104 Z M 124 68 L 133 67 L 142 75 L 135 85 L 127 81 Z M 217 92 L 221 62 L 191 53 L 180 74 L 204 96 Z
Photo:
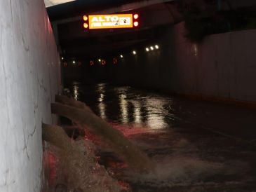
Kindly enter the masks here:
M 159 43 L 159 50 L 126 53 L 116 66 L 100 67 L 93 74 L 114 83 L 256 102 L 255 29 L 210 35 L 201 43 L 191 43 L 184 35 L 184 23 L 167 27 L 152 41 Z

